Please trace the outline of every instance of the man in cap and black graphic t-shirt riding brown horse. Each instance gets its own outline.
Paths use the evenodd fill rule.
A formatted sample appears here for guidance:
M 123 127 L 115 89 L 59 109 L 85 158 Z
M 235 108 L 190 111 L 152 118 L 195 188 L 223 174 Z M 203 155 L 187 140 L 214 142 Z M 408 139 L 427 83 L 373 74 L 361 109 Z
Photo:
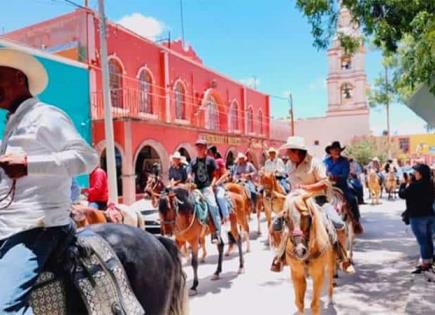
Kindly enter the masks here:
M 216 228 L 211 240 L 213 244 L 222 242 L 221 239 L 221 219 L 216 197 L 213 192 L 212 183 L 216 171 L 216 161 L 207 155 L 207 141 L 199 139 L 195 143 L 197 157 L 190 162 L 188 167 L 188 179 L 194 179 L 196 187 L 201 191 L 207 201 L 210 216 Z

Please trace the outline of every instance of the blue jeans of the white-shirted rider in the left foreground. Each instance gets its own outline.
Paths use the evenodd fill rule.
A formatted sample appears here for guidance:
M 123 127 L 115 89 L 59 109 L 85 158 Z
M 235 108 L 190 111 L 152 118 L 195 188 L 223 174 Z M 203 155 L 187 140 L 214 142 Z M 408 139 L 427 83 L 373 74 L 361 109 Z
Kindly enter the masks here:
M 0 314 L 33 314 L 32 287 L 69 228 L 35 228 L 0 241 Z

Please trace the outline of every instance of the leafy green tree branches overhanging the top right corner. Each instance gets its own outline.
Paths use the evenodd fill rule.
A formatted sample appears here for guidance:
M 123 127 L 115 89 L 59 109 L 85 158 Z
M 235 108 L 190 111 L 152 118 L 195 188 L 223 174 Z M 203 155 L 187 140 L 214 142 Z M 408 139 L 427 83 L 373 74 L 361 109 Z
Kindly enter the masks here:
M 366 40 L 385 55 L 398 54 L 393 83 L 403 97 L 418 84 L 426 83 L 435 94 L 435 1 L 431 0 L 341 0 L 359 24 Z M 314 46 L 325 49 L 335 35 L 339 16 L 337 0 L 297 0 L 308 18 Z M 337 34 L 348 53 L 359 47 L 358 38 Z

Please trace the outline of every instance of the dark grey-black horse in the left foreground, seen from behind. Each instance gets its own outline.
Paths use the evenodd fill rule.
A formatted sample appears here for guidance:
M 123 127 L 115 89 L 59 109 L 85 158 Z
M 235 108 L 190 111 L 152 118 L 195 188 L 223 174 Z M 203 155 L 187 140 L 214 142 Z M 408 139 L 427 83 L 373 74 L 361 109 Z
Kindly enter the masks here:
M 114 249 L 127 273 L 130 285 L 147 315 L 187 314 L 186 276 L 173 241 L 123 224 L 87 227 Z M 72 314 L 86 314 L 74 289 L 68 290 Z

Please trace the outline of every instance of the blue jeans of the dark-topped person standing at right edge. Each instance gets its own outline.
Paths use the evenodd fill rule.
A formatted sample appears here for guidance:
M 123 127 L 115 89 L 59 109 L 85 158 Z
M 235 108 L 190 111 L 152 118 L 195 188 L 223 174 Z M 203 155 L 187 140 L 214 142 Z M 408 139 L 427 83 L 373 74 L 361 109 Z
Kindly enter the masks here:
M 432 231 L 435 225 L 435 216 L 410 218 L 409 222 L 420 247 L 420 257 L 423 263 L 432 263 L 434 254 Z

